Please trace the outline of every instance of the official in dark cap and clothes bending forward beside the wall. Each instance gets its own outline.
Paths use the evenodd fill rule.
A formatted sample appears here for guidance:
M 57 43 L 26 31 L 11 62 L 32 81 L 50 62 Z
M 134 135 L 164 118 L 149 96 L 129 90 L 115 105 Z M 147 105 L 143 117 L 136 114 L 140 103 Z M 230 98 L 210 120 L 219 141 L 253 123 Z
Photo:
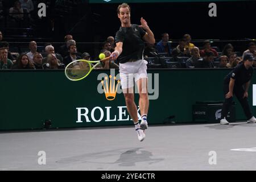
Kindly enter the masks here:
M 230 107 L 232 106 L 233 93 L 237 96 L 238 101 L 243 107 L 243 111 L 247 117 L 248 123 L 255 123 L 256 119 L 251 114 L 250 106 L 248 104 L 248 89 L 250 80 L 253 76 L 253 61 L 254 57 L 251 53 L 243 56 L 243 61 L 237 65 L 224 79 L 224 95 L 225 101 L 221 111 L 221 125 L 228 125 L 226 116 Z

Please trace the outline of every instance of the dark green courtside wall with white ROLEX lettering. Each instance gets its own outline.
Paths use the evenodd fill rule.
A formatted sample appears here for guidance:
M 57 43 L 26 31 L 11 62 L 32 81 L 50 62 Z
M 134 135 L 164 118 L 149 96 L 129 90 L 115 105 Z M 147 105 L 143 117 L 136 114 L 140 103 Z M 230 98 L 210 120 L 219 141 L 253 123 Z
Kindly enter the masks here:
M 223 100 L 222 82 L 230 69 L 151 69 L 149 74 L 159 74 L 159 97 L 150 100 L 148 121 L 161 124 L 171 115 L 176 123 L 192 122 L 192 105 L 196 101 Z M 0 130 L 40 129 L 46 119 L 51 119 L 53 127 L 87 127 L 131 125 L 131 121 L 121 121 L 128 117 L 123 94 L 115 100 L 106 100 L 97 92 L 100 80 L 97 76 L 109 71 L 93 71 L 81 81 L 69 81 L 64 71 L 1 71 L 0 72 Z M 116 71 L 115 74 L 118 72 Z M 156 81 L 156 80 L 155 80 Z M 251 84 L 256 83 L 255 75 Z M 249 89 L 249 103 L 252 106 L 252 86 Z M 138 94 L 135 97 L 138 104 Z M 237 102 L 237 100 L 235 100 Z M 88 108 L 88 119 L 81 117 L 76 122 L 77 107 Z M 94 107 L 95 122 L 91 117 Z M 109 119 L 107 109 L 109 109 Z M 252 107 L 254 115 L 255 106 Z M 82 110 L 84 113 L 85 110 Z M 120 114 L 123 112 L 123 114 Z M 237 120 L 245 119 L 240 104 L 236 105 Z M 106 121 L 114 119 L 115 121 Z M 117 121 L 119 120 L 119 121 Z

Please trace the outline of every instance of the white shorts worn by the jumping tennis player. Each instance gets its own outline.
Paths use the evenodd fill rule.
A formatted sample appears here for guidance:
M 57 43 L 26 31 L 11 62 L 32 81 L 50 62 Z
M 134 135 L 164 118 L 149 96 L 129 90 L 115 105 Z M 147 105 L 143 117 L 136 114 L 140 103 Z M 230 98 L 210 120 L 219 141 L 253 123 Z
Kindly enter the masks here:
M 147 61 L 119 63 L 119 72 L 122 89 L 134 87 L 134 81 L 147 78 Z

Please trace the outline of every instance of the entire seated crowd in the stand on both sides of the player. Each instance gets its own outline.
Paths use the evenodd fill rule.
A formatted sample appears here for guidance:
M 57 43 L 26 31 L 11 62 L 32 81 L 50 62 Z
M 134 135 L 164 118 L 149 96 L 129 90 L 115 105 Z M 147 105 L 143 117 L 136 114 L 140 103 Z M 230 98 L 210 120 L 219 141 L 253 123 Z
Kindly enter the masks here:
M 246 53 L 253 53 L 256 57 L 254 42 L 250 42 L 248 49 L 238 55 L 230 43 L 225 45 L 222 52 L 219 52 L 218 47 L 211 47 L 209 40 L 203 42 L 203 47 L 196 47 L 191 43 L 189 34 L 185 34 L 176 47 L 172 47 L 169 40 L 169 35 L 164 33 L 158 43 L 145 43 L 144 59 L 148 61 L 149 68 L 156 68 L 157 65 L 160 65 L 157 68 L 233 68 L 242 61 Z M 0 31 L 0 69 L 64 69 L 74 60 L 91 60 L 90 53 L 81 53 L 77 50 L 72 35 L 66 35 L 64 41 L 65 44 L 56 48 L 57 52 L 51 43 L 45 44 L 44 51 L 39 52 L 35 41 L 28 44 L 27 52 L 10 52 L 9 43 L 3 41 L 3 34 Z M 114 37 L 109 36 L 98 54 L 104 53 L 108 57 L 114 51 L 114 47 Z M 168 67 L 168 63 L 172 67 Z M 256 67 L 256 63 L 253 66 Z M 118 62 L 106 61 L 97 67 L 110 68 L 118 69 Z

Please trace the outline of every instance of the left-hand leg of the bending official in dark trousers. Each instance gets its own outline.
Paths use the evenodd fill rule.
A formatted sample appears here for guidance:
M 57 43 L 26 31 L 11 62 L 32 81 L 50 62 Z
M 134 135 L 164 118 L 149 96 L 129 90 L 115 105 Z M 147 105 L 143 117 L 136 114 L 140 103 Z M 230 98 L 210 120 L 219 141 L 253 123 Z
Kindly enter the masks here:
M 229 92 L 229 84 L 224 84 L 224 98 L 226 94 Z M 221 109 L 221 125 L 228 125 L 229 122 L 226 120 L 226 116 L 228 115 L 229 110 L 231 109 L 233 102 L 233 97 L 225 98 L 222 109 Z

